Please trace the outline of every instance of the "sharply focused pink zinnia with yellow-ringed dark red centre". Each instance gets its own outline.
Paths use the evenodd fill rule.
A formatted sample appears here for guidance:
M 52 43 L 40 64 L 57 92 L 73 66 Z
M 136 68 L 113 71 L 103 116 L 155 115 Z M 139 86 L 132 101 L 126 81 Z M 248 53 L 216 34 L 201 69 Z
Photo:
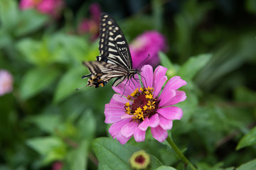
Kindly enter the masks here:
M 153 68 L 145 65 L 141 72 L 143 86 L 132 79 L 112 87 L 118 94 L 105 105 L 105 123 L 112 123 L 110 135 L 122 145 L 132 136 L 137 142 L 144 141 L 147 128 L 151 128 L 156 140 L 164 142 L 172 121 L 181 119 L 181 108 L 173 105 L 186 99 L 185 92 L 177 90 L 186 85 L 186 81 L 172 77 L 161 90 L 167 80 L 166 71 L 159 66 L 153 73 Z

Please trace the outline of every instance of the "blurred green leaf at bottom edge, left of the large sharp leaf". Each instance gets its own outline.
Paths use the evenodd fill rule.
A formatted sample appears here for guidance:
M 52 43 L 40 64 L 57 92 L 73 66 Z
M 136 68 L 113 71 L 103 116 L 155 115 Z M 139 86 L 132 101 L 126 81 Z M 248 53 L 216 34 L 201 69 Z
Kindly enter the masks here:
M 87 169 L 87 152 L 89 146 L 89 142 L 84 140 L 80 142 L 78 148 L 68 153 L 67 164 L 69 169 Z

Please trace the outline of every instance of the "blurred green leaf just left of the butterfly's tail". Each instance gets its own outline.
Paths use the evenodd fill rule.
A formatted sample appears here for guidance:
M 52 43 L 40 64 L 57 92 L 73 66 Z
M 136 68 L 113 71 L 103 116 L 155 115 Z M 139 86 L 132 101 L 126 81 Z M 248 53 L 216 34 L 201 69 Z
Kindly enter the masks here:
M 82 66 L 82 64 L 68 70 L 68 72 L 61 77 L 58 83 L 53 101 L 58 103 L 71 94 L 78 93 L 78 91 L 75 91 L 75 89 L 86 86 L 87 81 L 81 79 L 82 75 L 85 75 L 85 71 L 86 69 Z

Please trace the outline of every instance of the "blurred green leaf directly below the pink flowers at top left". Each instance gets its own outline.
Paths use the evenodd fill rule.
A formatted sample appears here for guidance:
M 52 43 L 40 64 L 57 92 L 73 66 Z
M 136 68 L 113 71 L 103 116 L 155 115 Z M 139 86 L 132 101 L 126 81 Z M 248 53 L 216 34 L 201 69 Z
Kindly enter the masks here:
M 27 9 L 21 12 L 18 20 L 18 26 L 15 30 L 15 35 L 21 36 L 33 32 L 43 26 L 48 21 L 48 17 L 38 13 L 35 10 Z

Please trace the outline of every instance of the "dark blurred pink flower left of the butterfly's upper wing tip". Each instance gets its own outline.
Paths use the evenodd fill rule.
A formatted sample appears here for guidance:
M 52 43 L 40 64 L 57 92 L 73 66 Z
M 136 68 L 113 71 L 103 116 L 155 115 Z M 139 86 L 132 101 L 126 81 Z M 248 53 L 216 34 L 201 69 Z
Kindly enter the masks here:
M 90 5 L 90 18 L 85 18 L 78 26 L 78 33 L 90 33 L 91 39 L 95 40 L 99 37 L 100 26 L 100 4 L 93 3 Z

